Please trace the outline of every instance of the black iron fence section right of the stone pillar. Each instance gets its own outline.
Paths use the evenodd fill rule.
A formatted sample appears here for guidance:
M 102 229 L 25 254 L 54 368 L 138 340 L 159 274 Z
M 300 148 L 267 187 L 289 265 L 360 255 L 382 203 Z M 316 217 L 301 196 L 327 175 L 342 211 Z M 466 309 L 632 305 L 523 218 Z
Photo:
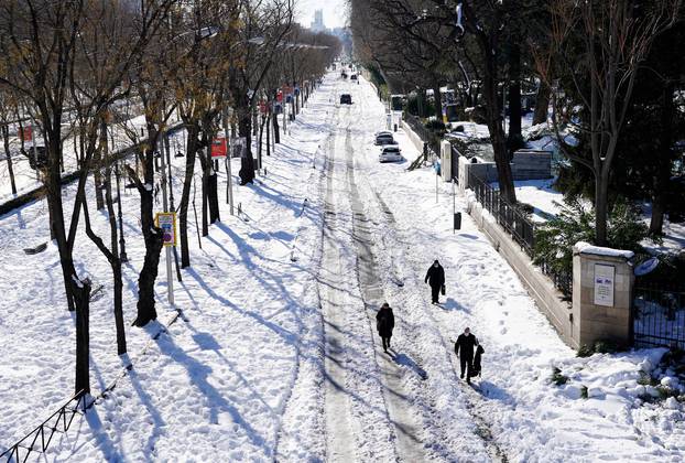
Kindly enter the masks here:
M 638 282 L 632 319 L 637 347 L 685 349 L 685 286 Z

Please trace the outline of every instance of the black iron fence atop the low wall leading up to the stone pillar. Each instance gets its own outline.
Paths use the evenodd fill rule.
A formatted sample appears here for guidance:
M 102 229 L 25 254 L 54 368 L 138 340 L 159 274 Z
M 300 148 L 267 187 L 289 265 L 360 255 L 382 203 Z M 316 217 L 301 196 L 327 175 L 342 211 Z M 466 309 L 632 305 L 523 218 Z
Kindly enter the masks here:
M 467 187 L 474 191 L 482 207 L 494 217 L 529 257 L 534 258 L 536 225 L 528 217 L 528 214 L 521 207 L 510 204 L 498 190 L 471 171 L 469 171 L 467 182 Z M 559 271 L 547 262 L 541 262 L 540 269 L 550 277 L 566 298 L 572 297 L 573 272 Z

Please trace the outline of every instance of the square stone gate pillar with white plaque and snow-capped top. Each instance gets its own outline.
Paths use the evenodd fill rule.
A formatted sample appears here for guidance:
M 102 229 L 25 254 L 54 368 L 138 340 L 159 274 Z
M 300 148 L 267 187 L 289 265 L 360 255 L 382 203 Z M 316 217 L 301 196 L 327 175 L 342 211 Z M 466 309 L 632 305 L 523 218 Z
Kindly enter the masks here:
M 632 343 L 632 251 L 578 243 L 573 258 L 573 338 Z

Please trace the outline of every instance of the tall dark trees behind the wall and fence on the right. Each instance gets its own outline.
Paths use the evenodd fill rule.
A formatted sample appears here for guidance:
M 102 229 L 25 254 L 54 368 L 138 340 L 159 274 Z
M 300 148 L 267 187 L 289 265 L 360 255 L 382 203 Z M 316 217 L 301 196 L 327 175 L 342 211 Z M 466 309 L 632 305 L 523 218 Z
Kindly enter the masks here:
M 596 241 L 607 243 L 610 176 L 654 41 L 683 19 L 682 0 L 350 0 L 355 53 L 401 90 L 450 84 L 485 109 L 501 194 L 515 204 L 511 153 L 521 143 L 521 85 L 534 83 L 534 123 L 552 99 L 558 142 L 595 180 Z M 663 77 L 663 76 L 662 76 Z M 664 80 L 665 82 L 665 80 Z M 664 84 L 666 85 L 666 84 Z M 554 88 L 554 93 L 553 93 Z M 554 95 L 565 95 L 565 107 Z M 503 130 L 503 99 L 511 127 Z M 580 108 L 580 110 L 578 110 Z M 438 118 L 439 114 L 436 114 Z M 581 132 L 589 150 L 566 143 Z M 563 130 L 562 130 L 563 129 Z

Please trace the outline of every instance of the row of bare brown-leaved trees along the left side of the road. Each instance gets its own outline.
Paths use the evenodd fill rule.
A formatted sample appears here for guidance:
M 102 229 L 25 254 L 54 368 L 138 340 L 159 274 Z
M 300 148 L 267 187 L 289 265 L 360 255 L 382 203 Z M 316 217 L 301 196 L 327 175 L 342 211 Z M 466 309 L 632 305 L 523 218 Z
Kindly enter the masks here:
M 119 179 L 128 179 L 140 198 L 140 239 L 145 251 L 133 256 L 142 260 L 133 324 L 144 326 L 156 319 L 154 284 L 163 248 L 162 230 L 154 222 L 155 189 L 173 181 L 171 169 L 156 172 L 155 158 L 166 155 L 170 163 L 170 131 L 173 126 L 185 131 L 181 198 L 176 207 L 172 190 L 171 205 L 165 207 L 178 211 L 181 267 L 188 267 L 188 205 L 196 161 L 202 170 L 202 233 L 207 235 L 210 224 L 220 219 L 211 141 L 225 127 L 232 128 L 232 136 L 244 137 L 240 183 L 252 182 L 259 168 L 251 142 L 258 108 L 267 108 L 262 128 L 273 127 L 278 142 L 278 89 L 287 83 L 308 95 L 339 53 L 337 40 L 303 31 L 293 14 L 293 0 L 1 2 L 0 128 L 4 152 L 11 170 L 10 131 L 22 120 L 34 120 L 46 153 L 41 180 L 51 239 L 59 254 L 67 308 L 76 312 L 77 394 L 90 389 L 93 290 L 75 265 L 83 260 L 75 256 L 77 232 L 84 229 L 110 263 L 118 354 L 123 354 L 122 265 L 128 256 L 122 249 L 121 211 L 117 214 L 116 209 Z M 123 117 L 122 106 L 139 114 Z M 138 115 L 144 116 L 141 132 L 127 121 Z M 124 133 L 128 144 L 134 147 L 132 158 L 123 157 L 112 144 L 115 131 Z M 74 144 L 78 160 L 73 201 L 63 195 L 68 143 Z M 260 153 L 261 146 L 260 139 Z M 98 235 L 91 226 L 88 182 L 94 182 L 95 206 L 108 218 L 109 236 Z M 15 191 L 14 185 L 12 189 Z M 177 274 L 181 278 L 180 271 Z

